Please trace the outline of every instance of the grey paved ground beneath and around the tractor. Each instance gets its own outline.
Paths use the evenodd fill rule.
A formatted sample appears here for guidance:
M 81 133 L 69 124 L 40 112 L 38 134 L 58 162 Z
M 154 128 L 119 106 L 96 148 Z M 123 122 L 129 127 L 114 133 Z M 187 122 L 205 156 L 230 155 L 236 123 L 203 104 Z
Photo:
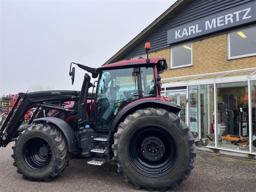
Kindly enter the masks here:
M 132 183 L 124 181 L 124 176 L 117 172 L 117 165 L 112 161 L 96 166 L 88 165 L 82 159 L 73 159 L 64 172 L 49 182 L 25 180 L 12 165 L 12 145 L 13 142 L 0 148 L 0 191 L 138 191 Z M 255 191 L 255 172 L 255 160 L 198 152 L 196 167 L 189 179 L 179 188 L 169 191 Z

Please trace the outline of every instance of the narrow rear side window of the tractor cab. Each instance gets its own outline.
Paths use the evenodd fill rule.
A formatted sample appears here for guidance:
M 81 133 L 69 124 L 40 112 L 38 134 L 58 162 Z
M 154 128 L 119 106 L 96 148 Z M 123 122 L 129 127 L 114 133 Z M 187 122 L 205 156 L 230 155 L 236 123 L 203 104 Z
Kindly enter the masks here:
M 153 67 L 141 67 L 141 87 L 143 97 L 156 95 L 155 75 Z

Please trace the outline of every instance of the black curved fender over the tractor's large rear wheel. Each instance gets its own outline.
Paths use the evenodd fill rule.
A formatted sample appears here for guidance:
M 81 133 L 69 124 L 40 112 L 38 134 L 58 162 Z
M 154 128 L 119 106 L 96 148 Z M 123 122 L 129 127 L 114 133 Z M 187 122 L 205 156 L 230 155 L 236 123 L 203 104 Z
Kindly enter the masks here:
M 173 104 L 168 101 L 163 101 L 163 100 L 158 100 L 158 99 L 137 100 L 137 101 L 134 101 L 134 102 L 128 104 L 127 106 L 125 106 L 121 111 L 119 111 L 116 114 L 116 116 L 110 126 L 111 132 L 114 132 L 116 130 L 117 126 L 124 120 L 124 118 L 127 115 L 132 114 L 134 111 L 136 111 L 138 109 L 148 108 L 148 107 L 163 108 L 165 110 L 171 111 L 172 113 L 175 113 L 176 115 L 178 115 L 181 110 L 180 105 Z

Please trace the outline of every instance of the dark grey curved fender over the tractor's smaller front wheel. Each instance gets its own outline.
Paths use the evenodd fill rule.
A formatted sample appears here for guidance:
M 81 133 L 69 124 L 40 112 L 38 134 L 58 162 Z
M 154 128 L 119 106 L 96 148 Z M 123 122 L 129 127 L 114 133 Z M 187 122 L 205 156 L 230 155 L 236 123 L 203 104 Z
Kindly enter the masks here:
M 39 119 L 34 119 L 33 121 L 49 121 L 52 124 L 55 124 L 60 130 L 64 133 L 67 143 L 68 143 L 68 151 L 72 152 L 77 149 L 77 140 L 76 135 L 73 129 L 70 127 L 68 123 L 65 121 L 56 118 L 56 117 L 43 117 Z

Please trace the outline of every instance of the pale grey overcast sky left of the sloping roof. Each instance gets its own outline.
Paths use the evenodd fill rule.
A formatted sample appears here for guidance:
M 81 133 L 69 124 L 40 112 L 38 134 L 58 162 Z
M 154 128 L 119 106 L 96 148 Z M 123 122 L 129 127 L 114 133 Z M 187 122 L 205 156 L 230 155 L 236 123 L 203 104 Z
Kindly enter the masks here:
M 0 96 L 41 84 L 80 90 L 84 72 L 99 67 L 167 10 L 169 1 L 3 1 Z

